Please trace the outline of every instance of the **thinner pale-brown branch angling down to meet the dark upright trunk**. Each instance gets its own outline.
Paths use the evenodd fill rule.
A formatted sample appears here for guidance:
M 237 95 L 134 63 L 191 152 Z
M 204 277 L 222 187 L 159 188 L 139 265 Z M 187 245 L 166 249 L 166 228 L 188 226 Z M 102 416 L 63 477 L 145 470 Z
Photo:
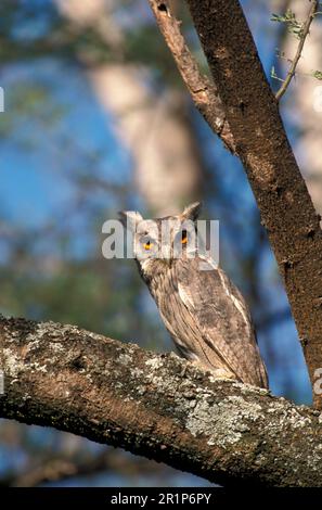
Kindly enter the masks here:
M 171 11 L 170 2 L 168 0 L 149 0 L 149 3 L 196 107 L 214 127 L 227 148 L 234 152 L 233 136 L 216 86 L 209 78 L 202 75 L 181 34 L 180 22 Z

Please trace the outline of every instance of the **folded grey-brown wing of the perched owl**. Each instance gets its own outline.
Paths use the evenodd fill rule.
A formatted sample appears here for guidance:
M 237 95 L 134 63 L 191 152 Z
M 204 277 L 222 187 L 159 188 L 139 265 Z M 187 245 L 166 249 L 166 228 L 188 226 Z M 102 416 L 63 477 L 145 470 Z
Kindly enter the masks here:
M 199 331 L 206 365 L 222 367 L 236 379 L 267 387 L 267 372 L 245 301 L 226 273 L 205 260 L 181 259 L 177 266 L 178 294 Z M 212 358 L 212 362 L 211 362 Z

